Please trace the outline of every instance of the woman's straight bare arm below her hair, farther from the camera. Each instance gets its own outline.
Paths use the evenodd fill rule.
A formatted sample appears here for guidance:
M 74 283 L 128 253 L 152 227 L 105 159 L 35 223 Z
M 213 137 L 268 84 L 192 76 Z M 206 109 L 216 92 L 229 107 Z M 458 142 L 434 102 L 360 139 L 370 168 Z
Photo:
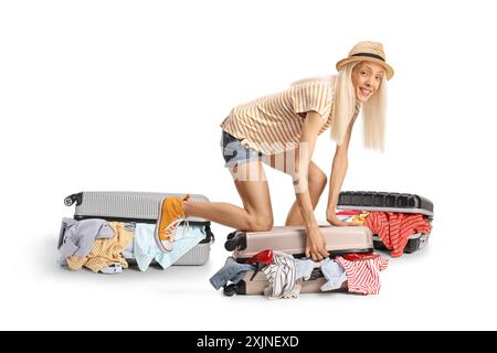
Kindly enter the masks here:
M 329 192 L 328 192 L 328 206 L 326 208 L 326 218 L 332 225 L 353 225 L 351 223 L 345 223 L 337 218 L 335 213 L 335 208 L 338 203 L 338 196 L 340 194 L 340 189 L 343 183 L 345 175 L 347 173 L 348 167 L 348 158 L 347 153 L 349 150 L 350 136 L 352 133 L 353 122 L 356 121 L 356 117 L 349 124 L 347 128 L 346 136 L 343 137 L 343 141 L 341 145 L 337 145 L 337 149 L 335 151 L 334 163 L 331 165 L 331 175 L 329 182 Z

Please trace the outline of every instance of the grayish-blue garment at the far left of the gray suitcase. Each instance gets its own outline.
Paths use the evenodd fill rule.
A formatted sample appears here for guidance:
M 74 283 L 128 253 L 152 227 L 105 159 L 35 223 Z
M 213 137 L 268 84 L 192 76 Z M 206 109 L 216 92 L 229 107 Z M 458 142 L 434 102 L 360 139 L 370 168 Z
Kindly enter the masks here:
M 64 237 L 59 244 L 59 249 L 63 257 L 85 257 L 92 250 L 95 238 L 114 237 L 114 231 L 108 226 L 107 221 L 99 218 L 83 221 L 62 218 L 62 232 Z

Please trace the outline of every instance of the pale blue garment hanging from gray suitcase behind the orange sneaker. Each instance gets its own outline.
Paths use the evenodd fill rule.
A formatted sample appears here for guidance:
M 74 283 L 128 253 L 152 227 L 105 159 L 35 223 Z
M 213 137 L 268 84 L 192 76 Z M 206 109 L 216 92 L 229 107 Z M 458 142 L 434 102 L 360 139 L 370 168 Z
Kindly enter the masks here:
M 186 227 L 178 226 L 172 250 L 162 253 L 154 239 L 155 228 L 155 224 L 147 223 L 137 223 L 135 228 L 134 257 L 141 271 L 146 271 L 152 260 L 156 260 L 162 268 L 168 268 L 205 239 L 205 229 L 202 226 L 190 226 L 184 234 Z

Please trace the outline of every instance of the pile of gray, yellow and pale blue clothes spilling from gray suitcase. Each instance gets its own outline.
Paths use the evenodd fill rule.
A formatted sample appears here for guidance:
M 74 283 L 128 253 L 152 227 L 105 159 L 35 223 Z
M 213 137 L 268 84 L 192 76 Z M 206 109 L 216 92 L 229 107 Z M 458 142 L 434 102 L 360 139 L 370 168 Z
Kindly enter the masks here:
M 175 247 L 162 253 L 154 239 L 155 224 L 107 222 L 101 218 L 63 218 L 59 239 L 61 265 L 97 274 L 119 274 L 133 259 L 146 271 L 152 261 L 168 268 L 205 239 L 201 226 L 179 226 Z

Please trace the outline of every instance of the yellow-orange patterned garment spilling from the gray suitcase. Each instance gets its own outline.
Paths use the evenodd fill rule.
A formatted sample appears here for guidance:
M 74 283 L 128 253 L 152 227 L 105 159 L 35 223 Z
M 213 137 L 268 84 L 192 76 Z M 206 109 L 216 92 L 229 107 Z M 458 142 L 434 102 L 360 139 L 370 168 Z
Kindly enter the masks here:
M 86 257 L 67 257 L 68 268 L 77 270 L 85 266 L 95 274 L 113 264 L 120 264 L 124 268 L 128 268 L 128 263 L 120 253 L 131 244 L 135 232 L 126 229 L 121 222 L 109 222 L 108 225 L 114 231 L 114 237 L 95 239 L 93 248 Z

